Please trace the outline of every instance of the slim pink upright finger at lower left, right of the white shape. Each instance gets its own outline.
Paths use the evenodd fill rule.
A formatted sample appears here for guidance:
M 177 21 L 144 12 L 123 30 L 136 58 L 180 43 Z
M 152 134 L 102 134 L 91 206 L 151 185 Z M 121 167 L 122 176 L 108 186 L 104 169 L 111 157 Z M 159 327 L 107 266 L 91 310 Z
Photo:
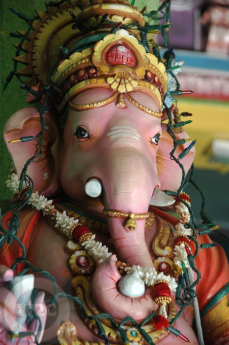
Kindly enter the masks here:
M 45 330 L 46 318 L 47 318 L 47 307 L 46 307 L 46 304 L 44 302 L 44 298 L 45 298 L 45 293 L 39 292 L 37 294 L 37 297 L 35 300 L 35 306 L 34 306 L 34 311 L 35 311 L 36 315 L 40 318 L 40 322 L 41 322 L 41 332 L 40 332 L 39 338 L 38 338 L 39 342 L 41 342 L 41 339 L 43 337 L 44 330 Z M 39 321 L 33 320 L 29 326 L 29 330 L 33 331 L 34 334 L 37 334 L 38 327 L 39 327 Z M 33 339 L 33 337 L 29 337 L 29 338 Z

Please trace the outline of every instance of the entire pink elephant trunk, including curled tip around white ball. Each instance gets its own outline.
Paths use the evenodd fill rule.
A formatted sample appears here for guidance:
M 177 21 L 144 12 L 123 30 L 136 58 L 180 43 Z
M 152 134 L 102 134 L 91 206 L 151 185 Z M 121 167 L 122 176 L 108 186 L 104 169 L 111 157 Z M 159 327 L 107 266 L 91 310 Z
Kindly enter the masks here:
M 146 154 L 143 154 L 144 151 Z M 160 185 L 156 175 L 156 162 L 153 162 L 145 147 L 142 151 L 133 149 L 132 146 L 119 147 L 116 150 L 113 147 L 108 157 L 110 161 L 107 164 L 110 167 L 107 175 L 101 178 L 104 188 L 104 207 L 128 214 L 147 212 L 152 193 L 155 187 Z M 137 220 L 137 228 L 132 231 L 124 228 L 125 221 L 126 219 L 108 217 L 117 260 L 130 266 L 153 267 L 145 243 L 145 220 Z M 130 315 L 137 321 L 143 320 L 157 308 L 152 299 L 151 289 L 147 288 L 141 298 L 125 296 L 117 290 L 117 282 L 120 278 L 114 255 L 99 264 L 92 281 L 95 301 L 103 311 L 117 319 Z

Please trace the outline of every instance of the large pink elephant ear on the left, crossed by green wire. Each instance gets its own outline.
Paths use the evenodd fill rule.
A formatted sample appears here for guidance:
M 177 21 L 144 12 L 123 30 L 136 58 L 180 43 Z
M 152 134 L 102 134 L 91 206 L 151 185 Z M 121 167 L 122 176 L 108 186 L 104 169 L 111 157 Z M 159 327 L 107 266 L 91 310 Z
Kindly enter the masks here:
M 58 169 L 55 157 L 57 155 L 58 131 L 51 116 L 44 115 L 46 127 L 42 145 L 42 158 L 38 162 L 31 163 L 27 173 L 34 182 L 34 189 L 40 194 L 51 196 L 58 188 Z M 36 150 L 35 140 L 26 142 L 9 143 L 9 140 L 33 136 L 41 130 L 40 115 L 36 108 L 28 107 L 17 111 L 7 121 L 4 127 L 4 140 L 12 157 L 18 176 L 27 160 Z

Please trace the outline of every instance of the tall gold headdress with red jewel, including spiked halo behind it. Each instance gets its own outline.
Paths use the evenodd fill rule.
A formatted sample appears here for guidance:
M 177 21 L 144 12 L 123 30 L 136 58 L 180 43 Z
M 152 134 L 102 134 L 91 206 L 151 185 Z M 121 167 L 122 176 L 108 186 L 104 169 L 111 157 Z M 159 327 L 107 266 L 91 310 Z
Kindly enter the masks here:
M 145 22 L 125 0 L 65 1 L 46 7 L 47 12 L 36 11 L 40 21 L 32 22 L 29 40 L 21 46 L 26 54 L 14 58 L 27 65 L 15 72 L 17 76 L 30 76 L 27 85 L 35 86 L 46 85 L 48 74 L 59 112 L 83 90 L 103 87 L 114 91 L 112 101 L 116 98 L 120 107 L 126 98 L 149 114 L 162 115 L 128 94 L 141 90 L 162 108 L 168 76 L 147 36 L 161 26 Z

